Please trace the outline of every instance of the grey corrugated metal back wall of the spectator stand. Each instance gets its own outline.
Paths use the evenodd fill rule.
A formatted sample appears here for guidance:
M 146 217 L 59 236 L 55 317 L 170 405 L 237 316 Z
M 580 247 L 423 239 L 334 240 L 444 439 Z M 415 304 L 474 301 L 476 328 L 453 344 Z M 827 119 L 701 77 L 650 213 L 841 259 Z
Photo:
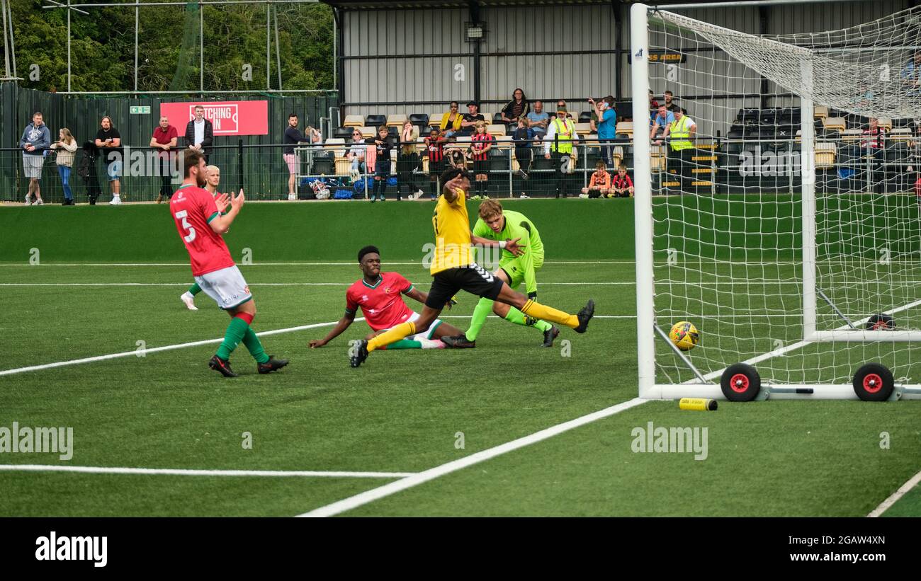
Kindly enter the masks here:
M 908 7 L 908 0 L 879 0 L 826 4 L 766 6 L 768 34 L 845 28 Z M 586 97 L 615 94 L 616 37 L 622 35 L 621 98 L 630 98 L 629 5 L 622 6 L 622 27 L 616 28 L 611 4 L 591 6 L 484 7 L 482 46 L 482 110 L 494 112 L 516 87 L 532 100 L 565 98 L 571 109 L 585 110 Z M 682 15 L 724 28 L 757 34 L 757 7 L 675 10 Z M 472 45 L 463 40 L 466 10 L 369 10 L 344 13 L 344 82 L 349 113 L 414 113 L 447 109 L 450 100 L 461 106 L 473 96 Z M 682 47 L 669 47 L 679 49 Z M 686 47 L 684 47 L 686 48 Z M 588 52 L 588 53 L 587 53 Z M 509 54 L 511 53 L 511 54 Z M 530 54 L 534 53 L 534 54 Z M 432 56 L 441 55 L 441 56 Z M 490 56 L 492 55 L 492 56 Z M 464 78 L 455 78 L 462 65 Z M 718 87 L 728 94 L 752 97 L 724 99 L 696 106 L 698 115 L 716 119 L 717 109 L 738 110 L 761 104 L 756 79 L 738 67 L 721 69 L 711 59 L 689 55 L 670 88 L 679 96 L 700 93 L 695 87 Z M 657 95 L 666 89 L 653 79 Z M 774 92 L 773 85 L 769 91 Z M 415 102 L 415 103 L 406 103 Z M 404 104 L 405 103 L 405 104 Z M 768 106 L 796 105 L 798 100 L 775 97 Z M 463 107 L 461 107 L 463 110 Z

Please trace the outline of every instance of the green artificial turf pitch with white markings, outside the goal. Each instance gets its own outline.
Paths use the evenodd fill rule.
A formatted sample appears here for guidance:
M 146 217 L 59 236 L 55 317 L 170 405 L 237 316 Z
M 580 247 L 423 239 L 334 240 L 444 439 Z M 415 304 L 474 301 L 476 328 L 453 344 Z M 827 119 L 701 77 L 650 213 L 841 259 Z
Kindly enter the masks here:
M 204 294 L 185 309 L 187 264 L 0 263 L 0 427 L 73 428 L 68 461 L 0 454 L 0 515 L 866 516 L 921 470 L 916 401 L 635 399 L 633 263 L 548 255 L 540 300 L 595 299 L 587 334 L 542 348 L 493 317 L 475 349 L 375 352 L 359 369 L 363 321 L 308 347 L 356 264 L 242 265 L 255 330 L 291 362 L 259 375 L 240 347 L 235 379 L 207 368 L 227 315 Z M 382 268 L 428 289 L 421 262 Z M 476 298 L 459 299 L 443 315 L 464 329 Z M 655 427 L 703 432 L 704 449 L 635 451 Z M 919 494 L 883 515 L 921 516 Z

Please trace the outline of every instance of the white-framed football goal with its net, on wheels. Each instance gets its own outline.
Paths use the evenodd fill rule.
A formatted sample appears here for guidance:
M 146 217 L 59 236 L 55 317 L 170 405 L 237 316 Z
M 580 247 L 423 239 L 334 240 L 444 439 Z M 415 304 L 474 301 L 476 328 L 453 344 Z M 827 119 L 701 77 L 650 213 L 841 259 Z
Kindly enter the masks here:
M 770 37 L 631 17 L 641 395 L 721 396 L 738 363 L 772 397 L 855 397 L 867 363 L 912 394 L 921 8 Z M 665 336 L 681 321 L 686 352 Z

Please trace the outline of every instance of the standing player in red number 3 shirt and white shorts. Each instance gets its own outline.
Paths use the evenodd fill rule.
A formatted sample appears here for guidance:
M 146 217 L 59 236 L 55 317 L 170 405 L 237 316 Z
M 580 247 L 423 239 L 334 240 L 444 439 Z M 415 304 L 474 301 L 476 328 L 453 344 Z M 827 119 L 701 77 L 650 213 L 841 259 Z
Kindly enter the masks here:
M 266 355 L 259 337 L 252 331 L 250 325 L 256 316 L 256 303 L 221 237 L 243 207 L 243 190 L 240 189 L 239 195 L 232 198 L 227 194 L 215 198 L 203 188 L 208 171 L 204 156 L 188 151 L 184 157 L 185 179 L 169 200 L 169 213 L 189 251 L 195 282 L 230 315 L 224 341 L 208 362 L 208 367 L 224 377 L 236 377 L 237 373 L 230 369 L 229 359 L 230 353 L 242 341 L 256 359 L 260 373 L 279 370 L 287 365 L 287 360 Z M 228 202 L 230 210 L 225 213 Z

